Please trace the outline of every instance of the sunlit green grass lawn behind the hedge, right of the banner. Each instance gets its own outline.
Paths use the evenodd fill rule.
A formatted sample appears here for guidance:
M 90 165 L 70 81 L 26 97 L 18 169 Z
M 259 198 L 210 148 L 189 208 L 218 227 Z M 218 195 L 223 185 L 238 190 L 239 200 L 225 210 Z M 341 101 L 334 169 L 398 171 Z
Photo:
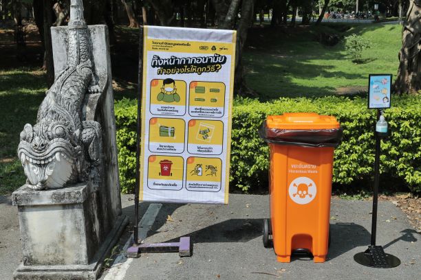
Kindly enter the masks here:
M 326 24 L 298 27 L 293 32 L 286 28 L 254 30 L 260 34 L 251 34 L 244 53 L 246 82 L 261 100 L 365 90 L 369 73 L 396 74 L 401 29 L 388 24 Z M 321 45 L 314 39 L 320 32 L 367 38 L 372 48 L 363 51 L 366 62 L 356 65 L 347 58 L 344 40 L 334 47 Z

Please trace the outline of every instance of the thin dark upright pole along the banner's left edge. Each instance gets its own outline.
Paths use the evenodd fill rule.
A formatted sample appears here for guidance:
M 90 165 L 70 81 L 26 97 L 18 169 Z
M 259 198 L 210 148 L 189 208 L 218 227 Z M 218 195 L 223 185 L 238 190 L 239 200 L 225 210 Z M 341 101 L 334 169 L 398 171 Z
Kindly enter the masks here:
M 139 191 L 140 191 L 140 121 L 142 106 L 142 81 L 143 81 L 143 26 L 139 27 L 139 71 L 138 71 L 138 119 L 136 128 L 136 187 L 135 187 L 135 222 L 133 223 L 133 241 L 139 242 Z

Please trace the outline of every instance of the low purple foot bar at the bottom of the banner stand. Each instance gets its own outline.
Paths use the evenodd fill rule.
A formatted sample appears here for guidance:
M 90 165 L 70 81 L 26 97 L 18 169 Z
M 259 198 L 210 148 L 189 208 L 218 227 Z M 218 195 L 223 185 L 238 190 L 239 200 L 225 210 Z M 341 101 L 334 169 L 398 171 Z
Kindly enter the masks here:
M 132 244 L 127 249 L 127 257 L 140 257 L 141 253 L 176 253 L 180 257 L 191 256 L 190 237 L 180 237 L 180 242 Z

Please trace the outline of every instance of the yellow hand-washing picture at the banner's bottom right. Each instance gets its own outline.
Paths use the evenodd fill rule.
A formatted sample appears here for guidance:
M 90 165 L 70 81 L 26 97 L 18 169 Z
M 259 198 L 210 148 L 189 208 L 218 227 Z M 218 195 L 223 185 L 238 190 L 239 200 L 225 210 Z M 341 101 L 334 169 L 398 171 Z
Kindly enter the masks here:
M 186 180 L 195 182 L 218 182 L 222 178 L 222 161 L 219 158 L 191 156 L 187 159 Z

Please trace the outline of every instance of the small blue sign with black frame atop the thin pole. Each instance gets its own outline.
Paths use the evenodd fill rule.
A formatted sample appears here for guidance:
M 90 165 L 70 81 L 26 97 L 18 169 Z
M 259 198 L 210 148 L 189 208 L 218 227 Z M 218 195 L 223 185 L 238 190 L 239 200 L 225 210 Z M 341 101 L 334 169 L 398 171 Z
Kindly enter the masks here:
M 391 74 L 369 75 L 369 109 L 390 108 L 391 78 Z

